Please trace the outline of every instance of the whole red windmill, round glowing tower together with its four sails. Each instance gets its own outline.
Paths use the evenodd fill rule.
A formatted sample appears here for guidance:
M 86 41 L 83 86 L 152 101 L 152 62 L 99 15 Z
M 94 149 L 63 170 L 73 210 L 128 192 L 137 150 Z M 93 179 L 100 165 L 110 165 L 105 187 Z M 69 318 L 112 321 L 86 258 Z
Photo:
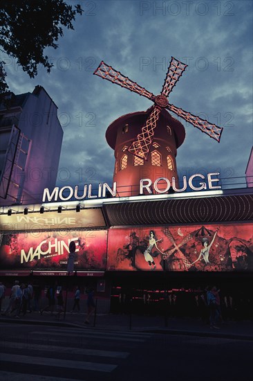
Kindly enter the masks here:
M 95 70 L 96 76 L 134 91 L 154 103 L 146 112 L 120 116 L 106 131 L 106 140 L 115 151 L 113 181 L 117 182 L 120 196 L 138 195 L 140 179 L 143 178 L 151 179 L 153 184 L 159 177 L 165 177 L 170 182 L 175 177 L 177 183 L 176 152 L 185 139 L 185 128 L 167 110 L 185 119 L 212 139 L 220 141 L 222 127 L 185 112 L 168 101 L 167 97 L 186 67 L 186 64 L 171 57 L 167 76 L 158 96 L 154 96 L 103 61 Z

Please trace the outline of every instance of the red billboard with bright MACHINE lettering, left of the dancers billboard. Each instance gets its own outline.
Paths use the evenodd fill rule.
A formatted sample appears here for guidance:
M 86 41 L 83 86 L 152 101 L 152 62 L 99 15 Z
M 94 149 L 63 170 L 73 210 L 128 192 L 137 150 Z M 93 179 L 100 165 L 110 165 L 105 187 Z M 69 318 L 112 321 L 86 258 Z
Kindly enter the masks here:
M 2 235 L 0 269 L 67 270 L 69 243 L 75 242 L 74 270 L 106 269 L 106 230 Z

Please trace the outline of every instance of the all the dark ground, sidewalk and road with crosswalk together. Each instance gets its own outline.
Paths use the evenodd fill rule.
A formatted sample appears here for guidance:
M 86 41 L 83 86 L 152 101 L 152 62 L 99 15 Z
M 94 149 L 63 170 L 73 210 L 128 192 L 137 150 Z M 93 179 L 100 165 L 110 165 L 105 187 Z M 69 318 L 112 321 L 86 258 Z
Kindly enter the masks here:
M 31 312 L 0 317 L 0 381 L 247 381 L 252 321 Z

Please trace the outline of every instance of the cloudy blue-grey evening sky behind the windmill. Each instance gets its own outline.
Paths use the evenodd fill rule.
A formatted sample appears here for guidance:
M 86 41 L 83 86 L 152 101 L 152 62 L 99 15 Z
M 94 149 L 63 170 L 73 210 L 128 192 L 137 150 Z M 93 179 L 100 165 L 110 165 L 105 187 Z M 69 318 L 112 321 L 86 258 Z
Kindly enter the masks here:
M 50 74 L 41 67 L 31 80 L 15 62 L 6 66 L 11 91 L 32 92 L 41 85 L 59 107 L 64 140 L 57 184 L 112 184 L 114 157 L 106 128 L 115 118 L 152 105 L 93 76 L 100 61 L 156 95 L 171 56 L 189 66 L 169 102 L 224 127 L 217 143 L 180 120 L 186 129 L 177 156 L 180 177 L 218 171 L 229 184 L 244 184 L 229 178 L 245 175 L 252 148 L 252 1 L 81 3 L 84 14 L 77 15 L 75 30 L 65 30 L 59 48 L 46 51 L 55 64 Z

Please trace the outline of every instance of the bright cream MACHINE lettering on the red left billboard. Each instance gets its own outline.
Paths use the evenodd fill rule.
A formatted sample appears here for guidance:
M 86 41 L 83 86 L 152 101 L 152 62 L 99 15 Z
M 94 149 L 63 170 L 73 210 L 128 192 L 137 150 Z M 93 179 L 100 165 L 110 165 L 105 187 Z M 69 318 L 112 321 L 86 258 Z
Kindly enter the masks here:
M 63 254 L 69 253 L 68 246 L 71 241 L 75 241 L 75 251 L 78 252 L 79 249 L 77 237 L 68 238 L 68 242 L 65 242 L 64 240 L 58 240 L 57 238 L 53 240 L 43 240 L 36 247 L 36 249 L 30 247 L 30 249 L 28 249 L 28 252 L 26 252 L 24 249 L 21 249 L 20 262 L 27 263 L 35 259 L 39 260 L 41 259 L 41 256 L 43 258 L 48 258 L 50 256 L 62 256 Z

